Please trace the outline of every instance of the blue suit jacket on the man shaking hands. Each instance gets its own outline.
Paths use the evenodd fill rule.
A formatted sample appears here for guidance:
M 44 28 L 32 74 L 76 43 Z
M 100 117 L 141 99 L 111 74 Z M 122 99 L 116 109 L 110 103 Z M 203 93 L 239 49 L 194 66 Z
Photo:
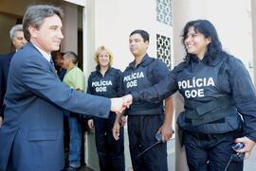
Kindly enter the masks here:
M 64 167 L 62 108 L 108 117 L 110 99 L 83 94 L 61 82 L 42 54 L 27 43 L 9 66 L 0 170 L 59 171 Z

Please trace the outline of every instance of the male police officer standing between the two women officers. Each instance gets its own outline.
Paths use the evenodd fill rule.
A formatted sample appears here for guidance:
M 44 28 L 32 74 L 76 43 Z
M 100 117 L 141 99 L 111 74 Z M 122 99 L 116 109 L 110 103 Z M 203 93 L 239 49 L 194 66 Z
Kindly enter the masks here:
M 149 33 L 137 29 L 130 34 L 129 46 L 135 60 L 123 72 L 123 93 L 129 94 L 157 84 L 168 75 L 166 64 L 147 54 Z M 128 136 L 133 169 L 135 171 L 167 171 L 167 145 L 173 135 L 174 108 L 172 97 L 160 102 L 136 102 L 125 114 L 128 115 Z M 164 110 L 165 109 L 165 110 Z M 119 139 L 119 115 L 113 128 L 114 137 Z M 144 155 L 137 155 L 155 144 L 155 134 L 160 135 L 162 143 Z

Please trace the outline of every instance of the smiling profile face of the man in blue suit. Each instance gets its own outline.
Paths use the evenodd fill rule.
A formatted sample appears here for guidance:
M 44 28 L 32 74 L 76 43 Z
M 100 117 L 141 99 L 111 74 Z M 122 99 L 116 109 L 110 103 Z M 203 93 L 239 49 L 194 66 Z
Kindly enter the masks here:
M 28 29 L 31 35 L 30 41 L 46 53 L 59 50 L 64 35 L 62 20 L 58 15 L 46 17 L 39 29 L 33 26 L 29 26 Z

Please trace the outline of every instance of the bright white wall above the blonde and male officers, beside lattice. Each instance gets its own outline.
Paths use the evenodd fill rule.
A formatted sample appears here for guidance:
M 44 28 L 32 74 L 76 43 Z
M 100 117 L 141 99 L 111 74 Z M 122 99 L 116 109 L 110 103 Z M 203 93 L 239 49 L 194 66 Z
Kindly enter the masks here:
M 91 2 L 90 2 L 91 3 Z M 129 51 L 129 34 L 135 29 L 145 29 L 151 35 L 149 54 L 156 56 L 155 33 L 172 35 L 170 26 L 155 21 L 155 0 L 94 1 L 95 9 L 88 16 L 94 18 L 94 46 L 106 45 L 114 53 L 114 67 L 124 70 L 134 60 Z M 88 9 L 89 10 L 89 9 Z M 91 21 L 91 19 L 89 19 Z M 90 56 L 92 56 L 91 54 Z

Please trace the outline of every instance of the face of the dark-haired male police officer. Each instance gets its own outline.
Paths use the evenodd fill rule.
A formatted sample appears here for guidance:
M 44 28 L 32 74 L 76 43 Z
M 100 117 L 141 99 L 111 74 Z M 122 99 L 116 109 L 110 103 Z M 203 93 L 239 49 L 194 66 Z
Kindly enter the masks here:
M 147 52 L 148 46 L 149 43 L 147 41 L 144 42 L 140 34 L 133 34 L 129 38 L 130 51 L 135 57 L 144 55 Z

